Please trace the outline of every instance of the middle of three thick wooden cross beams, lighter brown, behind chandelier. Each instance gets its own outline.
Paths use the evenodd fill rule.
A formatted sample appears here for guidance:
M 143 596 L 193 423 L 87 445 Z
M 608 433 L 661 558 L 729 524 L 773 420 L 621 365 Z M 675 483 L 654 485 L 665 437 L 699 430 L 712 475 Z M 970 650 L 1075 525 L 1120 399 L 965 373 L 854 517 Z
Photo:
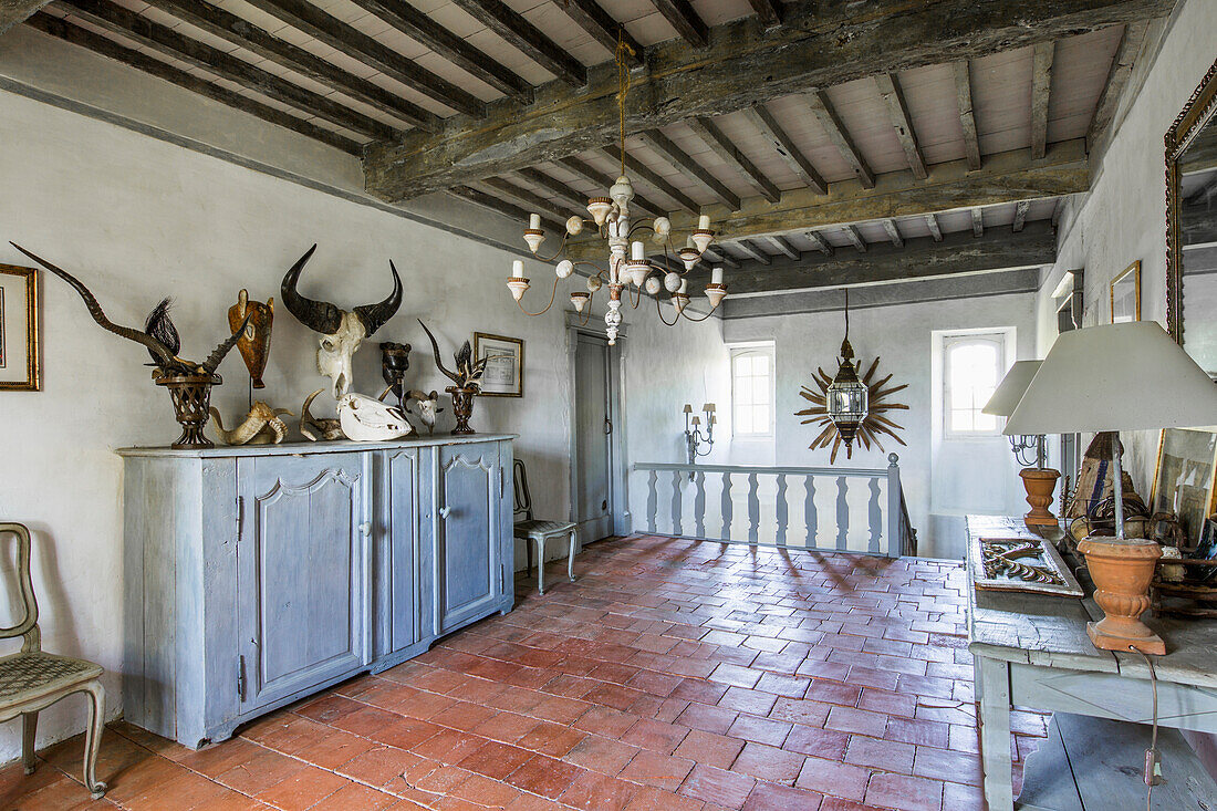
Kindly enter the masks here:
M 1090 184 L 1083 139 L 1050 144 L 1043 161 L 1032 161 L 1031 150 L 1021 149 L 986 156 L 980 172 L 969 170 L 965 161 L 937 163 L 929 169 L 925 180 L 915 179 L 907 169 L 888 172 L 879 175 L 874 189 L 842 180 L 829 184 L 828 195 L 792 189 L 779 203 L 753 197 L 745 200 L 739 212 L 703 206 L 701 213 L 711 218 L 722 239 L 730 240 L 1059 197 L 1086 191 Z M 691 229 L 697 222 L 694 213 L 674 212 L 671 217 L 675 231 Z

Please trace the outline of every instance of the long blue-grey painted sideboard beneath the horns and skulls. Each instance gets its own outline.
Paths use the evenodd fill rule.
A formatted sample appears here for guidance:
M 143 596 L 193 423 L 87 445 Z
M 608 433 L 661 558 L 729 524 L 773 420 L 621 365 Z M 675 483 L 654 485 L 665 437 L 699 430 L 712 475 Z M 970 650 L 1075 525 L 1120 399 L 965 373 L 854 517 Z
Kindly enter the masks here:
M 512 606 L 509 435 L 124 459 L 124 714 L 198 748 Z

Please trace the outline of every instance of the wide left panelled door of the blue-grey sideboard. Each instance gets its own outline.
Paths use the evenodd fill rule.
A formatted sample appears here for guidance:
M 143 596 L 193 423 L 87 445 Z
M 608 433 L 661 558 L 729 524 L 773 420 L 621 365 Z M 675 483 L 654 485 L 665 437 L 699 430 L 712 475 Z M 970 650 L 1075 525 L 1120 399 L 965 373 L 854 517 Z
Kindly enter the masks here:
M 241 712 L 369 661 L 370 454 L 237 463 Z

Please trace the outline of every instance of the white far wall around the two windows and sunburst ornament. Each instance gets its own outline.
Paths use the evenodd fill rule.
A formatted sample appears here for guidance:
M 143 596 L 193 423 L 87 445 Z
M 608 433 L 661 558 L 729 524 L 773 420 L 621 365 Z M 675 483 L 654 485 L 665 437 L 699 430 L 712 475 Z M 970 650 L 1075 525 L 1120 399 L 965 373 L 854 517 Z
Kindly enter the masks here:
M 842 449 L 836 464 L 886 468 L 887 453 L 899 455 L 901 483 L 922 555 L 959 558 L 963 554 L 959 537 L 961 521 L 954 516 L 957 511 L 936 507 L 936 502 L 944 500 L 943 493 L 953 496 L 949 500 L 959 503 L 989 500 L 992 496 L 988 491 L 978 492 L 976 488 L 983 485 L 972 477 L 950 469 L 933 469 L 931 335 L 933 330 L 1013 326 L 1017 357 L 1030 357 L 1034 348 L 1034 301 L 1032 293 L 1019 293 L 849 312 L 849 342 L 858 358 L 869 365 L 877 354 L 881 358 L 880 374 L 892 373 L 893 385 L 909 386 L 892 398 L 910 407 L 908 412 L 892 415 L 907 429 L 902 437 L 908 446 L 885 440 L 886 451 L 856 448 L 852 459 L 846 459 Z M 724 337 L 729 343 L 775 342 L 778 391 L 773 454 L 778 465 L 829 464 L 828 449 L 808 449 L 815 435 L 812 426 L 801 425 L 802 418 L 795 416 L 795 412 L 808 407 L 798 391 L 803 385 L 813 385 L 812 374 L 817 367 L 824 368 L 829 375 L 835 374 L 842 328 L 841 313 L 834 312 L 730 319 L 724 323 Z M 1005 479 L 1016 483 L 1013 455 L 1005 453 L 1000 458 L 1009 465 Z M 936 476 L 940 482 L 937 499 L 931 487 Z M 1013 486 L 1008 488 L 1005 502 L 1005 511 L 1025 511 L 1021 497 Z M 950 514 L 954 520 L 940 521 L 940 514 Z

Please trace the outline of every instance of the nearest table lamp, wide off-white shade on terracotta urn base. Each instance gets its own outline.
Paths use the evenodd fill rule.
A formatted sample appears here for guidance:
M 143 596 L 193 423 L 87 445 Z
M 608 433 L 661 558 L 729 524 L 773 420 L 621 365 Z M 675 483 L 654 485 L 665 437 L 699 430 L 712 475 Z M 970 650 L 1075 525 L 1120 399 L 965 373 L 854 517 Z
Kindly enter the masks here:
M 1056 339 L 1005 424 L 1005 434 L 1079 434 L 1195 427 L 1217 423 L 1217 386 L 1156 321 L 1106 324 Z M 1162 548 L 1125 537 L 1118 438 L 1112 442 L 1115 537 L 1078 544 L 1105 616 L 1087 625 L 1097 648 L 1163 654 L 1140 615 Z

